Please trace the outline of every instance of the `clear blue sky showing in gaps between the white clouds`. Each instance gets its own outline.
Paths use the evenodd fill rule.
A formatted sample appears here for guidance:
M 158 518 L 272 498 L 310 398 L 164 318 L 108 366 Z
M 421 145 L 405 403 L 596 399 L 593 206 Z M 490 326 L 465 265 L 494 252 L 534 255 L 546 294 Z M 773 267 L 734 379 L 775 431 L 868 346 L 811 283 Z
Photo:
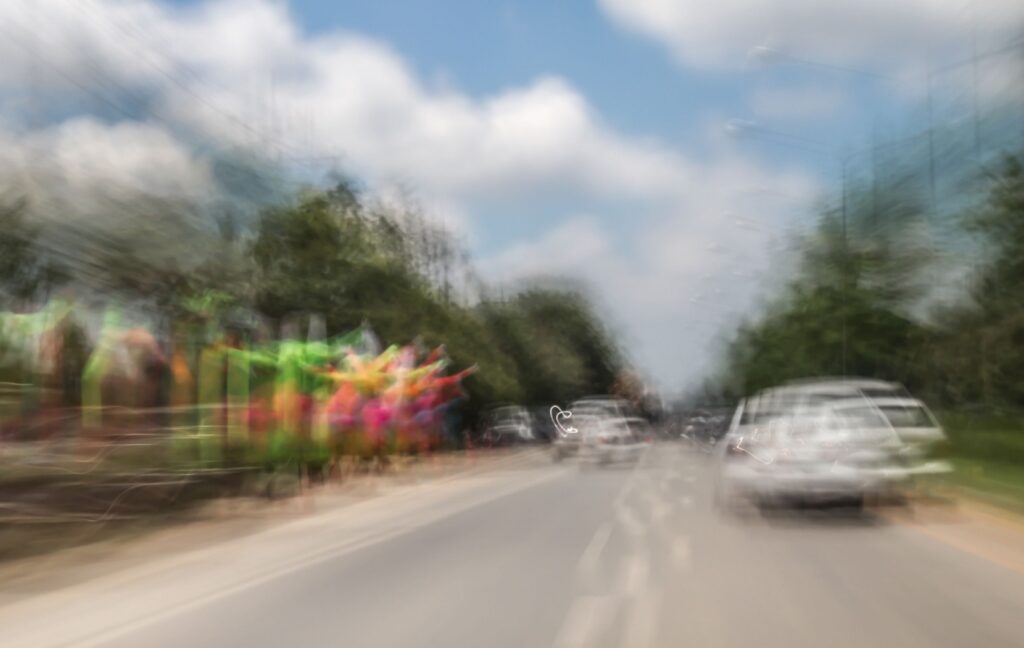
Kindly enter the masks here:
M 599 119 L 635 137 L 703 155 L 709 128 L 724 120 L 756 120 L 821 142 L 836 152 L 866 145 L 877 121 L 903 107 L 878 79 L 857 72 L 800 64 L 745 64 L 737 56 L 727 72 L 684 69 L 659 43 L 622 29 L 596 3 L 524 0 L 295 0 L 292 12 L 310 34 L 339 30 L 371 36 L 395 48 L 428 83 L 450 85 L 485 98 L 538 78 L 567 80 Z M 759 43 L 752 41 L 751 47 Z M 827 60 L 827 59 L 825 59 Z M 870 70 L 870 68 L 866 68 Z M 828 110 L 796 122 L 771 115 L 758 120 L 757 96 L 775 88 L 811 88 L 831 95 Z M 865 106 L 870 105 L 870 110 Z M 800 116 L 799 111 L 794 112 Z M 773 121 L 780 122 L 773 124 Z M 743 141 L 769 164 L 799 165 L 823 184 L 836 181 L 828 154 L 786 145 L 784 138 Z M 474 237 L 477 252 L 493 254 L 509 240 L 528 239 L 572 207 L 592 210 L 579 196 L 549 196 L 544 203 L 482 206 L 494 215 Z M 623 223 L 629 205 L 600 206 L 607 226 Z

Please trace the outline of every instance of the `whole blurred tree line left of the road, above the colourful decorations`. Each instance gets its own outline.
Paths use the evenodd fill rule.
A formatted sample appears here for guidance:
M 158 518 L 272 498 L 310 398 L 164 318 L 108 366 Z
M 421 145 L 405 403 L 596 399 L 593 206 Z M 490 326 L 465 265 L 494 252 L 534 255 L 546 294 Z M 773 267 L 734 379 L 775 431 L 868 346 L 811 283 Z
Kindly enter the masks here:
M 174 200 L 112 209 L 123 226 L 69 223 L 74 231 L 56 240 L 77 242 L 75 282 L 84 292 L 143 311 L 158 332 L 241 319 L 303 337 L 292 325 L 315 318 L 328 334 L 366 321 L 387 343 L 445 345 L 453 371 L 479 370 L 464 383 L 469 425 L 496 402 L 606 393 L 624 364 L 581 295 L 531 288 L 489 301 L 443 225 L 411 201 L 367 201 L 348 181 L 306 190 L 255 219 L 241 217 L 240 206 L 211 215 Z M 24 203 L 0 210 L 0 290 L 26 302 L 72 278 L 39 252 L 42 230 Z

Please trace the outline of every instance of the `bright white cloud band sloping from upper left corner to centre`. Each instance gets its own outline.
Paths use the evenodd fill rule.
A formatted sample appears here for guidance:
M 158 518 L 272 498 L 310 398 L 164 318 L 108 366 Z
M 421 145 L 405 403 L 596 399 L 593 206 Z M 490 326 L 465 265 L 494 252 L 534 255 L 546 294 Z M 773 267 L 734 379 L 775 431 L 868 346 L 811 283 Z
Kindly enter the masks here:
M 0 83 L 22 83 L 35 62 L 45 83 L 68 91 L 76 88 L 61 77 L 127 103 L 126 93 L 156 93 L 160 119 L 241 144 L 287 140 L 276 152 L 286 159 L 340 155 L 346 170 L 372 182 L 397 179 L 464 198 L 552 188 L 649 196 L 674 192 L 688 178 L 682 157 L 612 132 L 560 79 L 482 99 L 430 88 L 384 44 L 304 35 L 267 0 L 195 9 L 146 0 L 28 7 L 0 9 L 0 21 L 34 47 L 0 46 L 8 62 Z M 42 23 L 44 13 L 53 19 Z

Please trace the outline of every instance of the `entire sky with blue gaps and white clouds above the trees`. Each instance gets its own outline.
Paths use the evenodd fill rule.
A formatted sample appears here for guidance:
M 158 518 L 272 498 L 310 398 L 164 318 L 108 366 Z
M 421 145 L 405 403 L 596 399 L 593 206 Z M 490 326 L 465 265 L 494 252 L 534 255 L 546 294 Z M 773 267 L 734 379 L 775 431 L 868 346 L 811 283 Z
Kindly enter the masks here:
M 11 0 L 0 164 L 45 149 L 70 188 L 202 195 L 217 142 L 411 187 L 492 282 L 584 282 L 674 391 L 784 275 L 787 237 L 835 198 L 838 156 L 905 127 L 930 69 L 972 35 L 1014 37 L 1022 14 L 1016 0 Z

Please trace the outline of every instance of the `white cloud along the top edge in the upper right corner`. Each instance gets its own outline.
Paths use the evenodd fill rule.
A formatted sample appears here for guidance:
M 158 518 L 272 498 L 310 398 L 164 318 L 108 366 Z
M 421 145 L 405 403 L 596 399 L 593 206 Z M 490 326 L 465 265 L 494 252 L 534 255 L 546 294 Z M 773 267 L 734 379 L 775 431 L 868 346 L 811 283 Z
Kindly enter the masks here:
M 653 38 L 682 63 L 735 69 L 770 45 L 822 62 L 883 63 L 1019 27 L 1019 0 L 598 0 L 615 23 Z M 972 5 L 977 6 L 972 8 Z M 1007 32 L 1012 33 L 1012 32 Z

